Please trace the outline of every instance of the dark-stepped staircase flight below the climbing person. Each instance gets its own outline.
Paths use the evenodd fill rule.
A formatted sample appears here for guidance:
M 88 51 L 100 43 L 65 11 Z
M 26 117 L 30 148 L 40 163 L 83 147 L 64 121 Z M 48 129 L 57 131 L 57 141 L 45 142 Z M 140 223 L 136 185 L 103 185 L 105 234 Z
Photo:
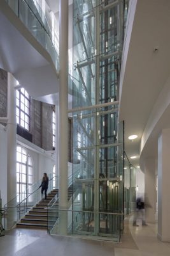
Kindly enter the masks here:
M 59 193 L 59 189 L 53 189 L 47 196 L 46 200 L 41 199 L 41 201 L 36 204 L 32 209 L 17 223 L 17 228 L 39 228 L 47 229 L 47 205 L 52 200 L 53 196 Z M 56 202 L 56 207 L 58 207 L 59 202 Z M 49 220 L 49 219 L 48 219 Z M 50 222 L 55 223 L 56 213 L 50 214 Z M 49 225 L 49 223 L 48 223 Z

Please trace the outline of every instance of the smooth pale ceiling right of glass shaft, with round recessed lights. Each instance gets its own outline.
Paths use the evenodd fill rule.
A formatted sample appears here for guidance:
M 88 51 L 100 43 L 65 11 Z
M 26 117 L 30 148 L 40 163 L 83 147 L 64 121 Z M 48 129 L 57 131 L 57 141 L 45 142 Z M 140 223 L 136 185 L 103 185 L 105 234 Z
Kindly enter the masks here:
M 124 76 L 120 84 L 120 120 L 125 121 L 125 152 L 129 158 L 137 156 L 131 159 L 137 166 L 146 122 L 169 76 L 170 1 L 133 0 L 131 3 L 136 3 L 136 11 L 132 30 L 131 26 L 127 28 L 130 41 L 124 45 L 127 60 L 122 60 L 124 72 L 120 75 Z M 138 139 L 128 140 L 131 134 L 137 134 Z M 150 154 L 154 155 L 151 148 Z

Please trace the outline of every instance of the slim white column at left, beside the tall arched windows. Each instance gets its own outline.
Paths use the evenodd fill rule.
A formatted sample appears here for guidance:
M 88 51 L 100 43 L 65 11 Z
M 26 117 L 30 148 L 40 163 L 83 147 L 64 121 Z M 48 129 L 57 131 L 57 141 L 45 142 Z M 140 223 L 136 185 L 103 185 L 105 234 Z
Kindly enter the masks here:
M 8 73 L 8 124 L 7 124 L 7 201 L 16 196 L 16 92 L 15 86 L 16 79 Z M 16 205 L 17 202 L 13 200 L 12 205 Z M 10 211 L 10 221 L 8 221 L 8 227 L 11 227 L 17 218 L 17 211 L 13 209 Z M 9 214 L 8 214 L 9 216 Z

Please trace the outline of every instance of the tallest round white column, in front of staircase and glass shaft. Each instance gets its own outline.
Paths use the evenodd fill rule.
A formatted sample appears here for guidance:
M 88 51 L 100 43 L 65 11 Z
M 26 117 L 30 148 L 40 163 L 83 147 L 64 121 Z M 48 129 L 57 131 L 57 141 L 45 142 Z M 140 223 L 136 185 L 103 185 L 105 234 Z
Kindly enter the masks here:
M 68 0 L 60 0 L 59 209 L 67 208 L 68 158 Z M 59 212 L 59 234 L 67 234 L 67 212 Z

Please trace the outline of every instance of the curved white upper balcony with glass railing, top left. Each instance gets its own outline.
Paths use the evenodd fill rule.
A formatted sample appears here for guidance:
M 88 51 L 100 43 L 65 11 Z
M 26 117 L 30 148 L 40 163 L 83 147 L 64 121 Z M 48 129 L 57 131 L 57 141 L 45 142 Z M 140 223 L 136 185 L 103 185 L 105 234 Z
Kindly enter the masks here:
M 59 35 L 53 19 L 36 0 L 1 0 L 0 67 L 34 99 L 59 92 Z M 48 101 L 55 104 L 52 98 Z

